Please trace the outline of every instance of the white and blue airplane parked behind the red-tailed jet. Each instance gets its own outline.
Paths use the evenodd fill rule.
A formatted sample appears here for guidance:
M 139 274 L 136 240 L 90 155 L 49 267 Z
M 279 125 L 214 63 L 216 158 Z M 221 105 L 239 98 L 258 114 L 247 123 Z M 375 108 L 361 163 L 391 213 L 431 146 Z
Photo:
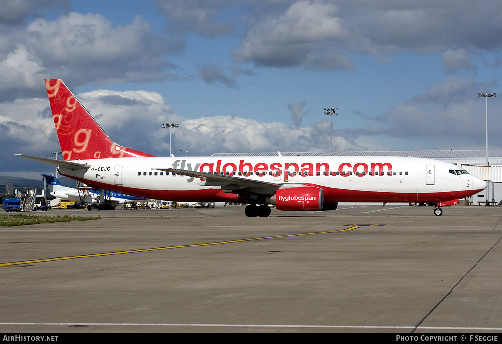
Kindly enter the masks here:
M 99 202 L 99 191 L 90 189 L 90 190 L 79 190 L 74 188 L 68 188 L 57 180 L 55 176 L 52 175 L 41 175 L 45 178 L 45 182 L 51 188 L 50 194 L 56 196 L 57 198 L 61 198 L 66 201 L 73 202 L 85 202 L 85 203 L 98 203 Z M 126 195 L 122 193 L 116 193 L 112 191 L 105 190 L 105 198 L 108 200 L 111 205 L 120 205 L 124 202 L 140 202 L 140 201 L 151 201 L 150 199 L 136 197 L 131 195 Z

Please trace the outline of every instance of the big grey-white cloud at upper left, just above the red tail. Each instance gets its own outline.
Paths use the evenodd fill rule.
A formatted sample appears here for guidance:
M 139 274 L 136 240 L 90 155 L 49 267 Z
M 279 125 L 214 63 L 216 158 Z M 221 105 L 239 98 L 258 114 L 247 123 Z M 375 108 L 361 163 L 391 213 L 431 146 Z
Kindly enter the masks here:
M 43 96 L 38 85 L 46 78 L 73 85 L 176 78 L 166 72 L 177 68 L 165 59 L 167 38 L 153 34 L 140 17 L 113 27 L 99 14 L 70 13 L 53 21 L 39 18 L 15 35 L 18 43 L 11 46 L 1 44 L 6 37 L 0 34 L 0 101 Z

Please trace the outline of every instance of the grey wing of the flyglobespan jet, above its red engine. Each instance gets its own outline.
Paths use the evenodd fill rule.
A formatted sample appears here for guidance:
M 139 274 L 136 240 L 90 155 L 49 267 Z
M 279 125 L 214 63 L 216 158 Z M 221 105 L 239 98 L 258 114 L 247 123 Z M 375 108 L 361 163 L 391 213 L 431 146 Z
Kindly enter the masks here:
M 284 186 L 279 183 L 261 182 L 250 180 L 247 178 L 240 178 L 234 176 L 214 175 L 207 172 L 190 171 L 187 169 L 178 168 L 153 168 L 161 171 L 171 172 L 177 175 L 187 176 L 202 179 L 203 181 L 197 183 L 200 186 L 212 187 L 213 189 L 232 190 L 232 191 L 247 191 L 257 194 L 273 194 L 277 189 Z

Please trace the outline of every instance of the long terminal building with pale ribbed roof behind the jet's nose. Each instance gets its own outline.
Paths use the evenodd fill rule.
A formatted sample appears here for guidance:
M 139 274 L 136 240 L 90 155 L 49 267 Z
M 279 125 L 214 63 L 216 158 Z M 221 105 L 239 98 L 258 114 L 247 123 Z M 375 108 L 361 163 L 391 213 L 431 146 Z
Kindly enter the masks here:
M 395 150 L 395 151 L 345 151 L 345 152 L 290 152 L 282 156 L 411 156 L 451 162 L 462 166 L 471 175 L 488 182 L 483 192 L 466 199 L 472 205 L 496 202 L 502 205 L 502 150 Z M 279 156 L 279 153 L 216 153 L 211 156 Z

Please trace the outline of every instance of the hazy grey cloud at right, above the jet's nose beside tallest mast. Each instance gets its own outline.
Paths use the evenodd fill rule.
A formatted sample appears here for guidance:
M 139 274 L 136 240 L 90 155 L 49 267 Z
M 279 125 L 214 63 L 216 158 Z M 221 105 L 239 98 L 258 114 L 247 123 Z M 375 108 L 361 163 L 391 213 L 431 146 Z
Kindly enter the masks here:
M 381 135 L 414 141 L 416 149 L 482 149 L 485 144 L 485 102 L 477 97 L 482 87 L 472 79 L 451 77 L 422 95 L 394 106 L 380 118 Z M 500 111 L 496 102 L 490 113 Z M 491 116 L 490 137 L 502 119 Z M 497 140 L 490 149 L 500 149 Z

